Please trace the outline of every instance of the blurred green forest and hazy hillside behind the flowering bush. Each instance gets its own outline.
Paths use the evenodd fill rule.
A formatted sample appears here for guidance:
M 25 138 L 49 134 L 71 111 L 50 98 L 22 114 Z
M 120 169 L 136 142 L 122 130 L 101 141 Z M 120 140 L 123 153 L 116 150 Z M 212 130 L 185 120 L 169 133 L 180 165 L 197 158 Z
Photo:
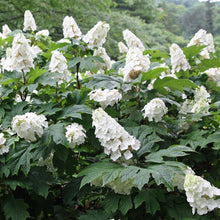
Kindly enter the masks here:
M 63 36 L 63 18 L 75 18 L 85 34 L 98 21 L 106 21 L 111 29 L 105 47 L 117 58 L 117 42 L 128 28 L 142 39 L 145 46 L 167 50 L 173 42 L 185 46 L 199 30 L 215 36 L 220 44 L 220 3 L 198 0 L 0 0 L 0 26 L 22 29 L 24 11 L 31 9 L 38 29 L 45 26 L 53 39 Z

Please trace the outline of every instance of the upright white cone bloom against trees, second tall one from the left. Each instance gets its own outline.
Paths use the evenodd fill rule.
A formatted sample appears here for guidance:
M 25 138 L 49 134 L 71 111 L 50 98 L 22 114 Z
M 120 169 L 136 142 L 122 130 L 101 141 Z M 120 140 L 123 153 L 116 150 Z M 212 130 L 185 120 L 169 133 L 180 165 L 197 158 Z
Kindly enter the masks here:
M 80 31 L 74 18 L 71 16 L 66 16 L 63 19 L 63 36 L 64 38 L 76 38 L 80 39 L 82 32 Z

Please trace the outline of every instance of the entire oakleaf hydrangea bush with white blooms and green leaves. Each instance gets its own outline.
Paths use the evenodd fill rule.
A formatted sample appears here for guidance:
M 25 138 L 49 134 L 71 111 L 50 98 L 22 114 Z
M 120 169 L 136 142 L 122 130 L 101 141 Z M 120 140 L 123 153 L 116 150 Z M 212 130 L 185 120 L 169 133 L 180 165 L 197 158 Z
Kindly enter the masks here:
M 0 218 L 218 219 L 212 36 L 169 54 L 126 30 L 111 61 L 107 23 L 56 41 L 26 16 L 0 37 Z

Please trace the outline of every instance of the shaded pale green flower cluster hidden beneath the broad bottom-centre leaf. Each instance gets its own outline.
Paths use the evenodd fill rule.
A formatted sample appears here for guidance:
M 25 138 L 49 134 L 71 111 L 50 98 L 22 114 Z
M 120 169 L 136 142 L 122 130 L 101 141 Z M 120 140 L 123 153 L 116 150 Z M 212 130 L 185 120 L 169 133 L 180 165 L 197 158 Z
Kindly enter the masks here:
M 107 183 L 106 185 L 103 185 L 102 176 L 96 178 L 91 183 L 95 186 L 107 186 L 114 190 L 115 193 L 122 195 L 130 195 L 131 189 L 133 187 L 137 187 L 137 185 L 133 183 L 133 179 L 127 179 L 124 182 L 122 182 L 120 177 L 117 177 L 116 179 Z

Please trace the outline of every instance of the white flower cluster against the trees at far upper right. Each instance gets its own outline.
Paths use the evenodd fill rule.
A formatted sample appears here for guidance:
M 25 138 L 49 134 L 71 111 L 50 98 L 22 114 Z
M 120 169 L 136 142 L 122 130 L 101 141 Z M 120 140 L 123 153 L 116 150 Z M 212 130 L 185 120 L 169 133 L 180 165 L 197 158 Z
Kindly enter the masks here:
M 200 29 L 194 37 L 190 40 L 188 43 L 187 47 L 197 45 L 197 46 L 206 46 L 203 48 L 201 51 L 200 55 L 204 59 L 209 59 L 210 54 L 209 53 L 214 53 L 215 52 L 215 46 L 214 46 L 214 41 L 213 41 L 213 36 L 212 34 L 207 34 L 207 32 L 203 29 Z

